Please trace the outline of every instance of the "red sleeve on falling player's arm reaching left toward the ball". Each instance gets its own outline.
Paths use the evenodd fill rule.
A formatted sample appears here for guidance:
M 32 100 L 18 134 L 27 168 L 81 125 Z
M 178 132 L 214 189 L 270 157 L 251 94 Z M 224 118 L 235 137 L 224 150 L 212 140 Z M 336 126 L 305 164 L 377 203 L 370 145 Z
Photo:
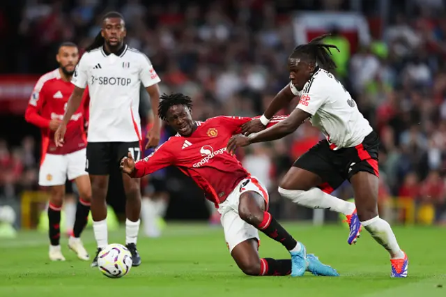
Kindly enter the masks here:
M 142 177 L 151 174 L 157 170 L 163 169 L 170 165 L 174 165 L 175 156 L 169 151 L 168 146 L 171 142 L 167 140 L 164 144 L 158 146 L 156 151 L 148 155 L 146 158 L 137 161 L 134 165 L 132 177 Z

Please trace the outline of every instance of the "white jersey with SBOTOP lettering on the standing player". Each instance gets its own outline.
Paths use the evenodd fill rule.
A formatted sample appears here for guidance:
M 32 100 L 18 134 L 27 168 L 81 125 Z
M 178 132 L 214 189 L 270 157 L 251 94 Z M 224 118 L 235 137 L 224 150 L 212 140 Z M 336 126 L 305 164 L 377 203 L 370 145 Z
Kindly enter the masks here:
M 124 45 L 121 54 L 106 54 L 103 47 L 84 53 L 72 84 L 89 86 L 88 142 L 141 140 L 139 90 L 160 82 L 147 56 Z

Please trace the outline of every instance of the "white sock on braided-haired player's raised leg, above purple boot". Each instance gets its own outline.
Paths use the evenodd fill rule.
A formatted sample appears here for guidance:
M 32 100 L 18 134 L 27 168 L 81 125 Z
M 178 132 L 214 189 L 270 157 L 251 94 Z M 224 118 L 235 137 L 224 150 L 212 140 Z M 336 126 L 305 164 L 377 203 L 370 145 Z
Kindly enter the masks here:
M 355 204 L 344 201 L 330 194 L 323 192 L 319 188 L 311 188 L 308 191 L 286 190 L 279 187 L 279 193 L 296 204 L 308 208 L 330 209 L 344 215 L 351 215 L 355 211 Z

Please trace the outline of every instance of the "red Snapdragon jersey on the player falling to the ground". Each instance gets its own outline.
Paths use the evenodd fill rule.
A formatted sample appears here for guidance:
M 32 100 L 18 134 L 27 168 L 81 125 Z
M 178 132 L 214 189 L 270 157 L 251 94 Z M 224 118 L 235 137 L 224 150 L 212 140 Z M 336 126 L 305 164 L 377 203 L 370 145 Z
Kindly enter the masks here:
M 268 125 L 285 118 L 276 116 Z M 250 120 L 252 118 L 217 116 L 196 122 L 197 130 L 189 137 L 170 137 L 154 153 L 137 161 L 132 176 L 145 176 L 174 165 L 204 190 L 207 199 L 220 204 L 243 178 L 249 176 L 236 157 L 226 152 L 226 144 L 232 135 L 240 133 L 240 126 Z

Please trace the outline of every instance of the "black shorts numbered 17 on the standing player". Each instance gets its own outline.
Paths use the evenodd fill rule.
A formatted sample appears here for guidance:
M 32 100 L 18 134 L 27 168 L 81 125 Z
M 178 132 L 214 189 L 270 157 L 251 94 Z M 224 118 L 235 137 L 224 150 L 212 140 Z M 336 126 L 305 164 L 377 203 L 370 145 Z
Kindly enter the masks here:
M 139 160 L 142 153 L 139 142 L 89 142 L 86 144 L 85 170 L 93 175 L 109 175 L 129 152 L 134 160 Z

